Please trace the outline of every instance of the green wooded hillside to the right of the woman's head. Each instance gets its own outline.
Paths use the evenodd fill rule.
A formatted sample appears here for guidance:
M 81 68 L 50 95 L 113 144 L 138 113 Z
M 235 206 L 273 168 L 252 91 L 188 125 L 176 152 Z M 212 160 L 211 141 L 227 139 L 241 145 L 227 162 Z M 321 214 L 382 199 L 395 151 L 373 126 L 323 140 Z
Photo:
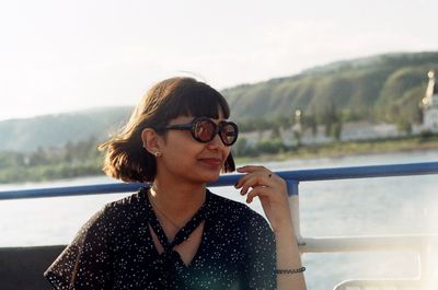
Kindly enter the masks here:
M 339 61 L 300 74 L 223 91 L 233 118 L 275 119 L 296 109 L 316 118 L 333 107 L 350 119 L 417 121 L 427 72 L 438 53 L 388 54 Z

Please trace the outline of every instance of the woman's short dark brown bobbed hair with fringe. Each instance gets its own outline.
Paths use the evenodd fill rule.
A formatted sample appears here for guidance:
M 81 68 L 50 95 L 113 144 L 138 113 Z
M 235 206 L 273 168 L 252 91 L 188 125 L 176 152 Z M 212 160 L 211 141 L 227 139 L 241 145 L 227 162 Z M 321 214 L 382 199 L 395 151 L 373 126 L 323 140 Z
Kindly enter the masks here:
M 163 135 L 169 121 L 178 116 L 230 117 L 227 100 L 215 89 L 192 78 L 171 78 L 153 85 L 134 109 L 126 126 L 99 149 L 105 151 L 103 171 L 124 182 L 152 182 L 155 156 L 142 147 L 141 132 L 152 128 Z M 233 172 L 230 152 L 222 172 Z

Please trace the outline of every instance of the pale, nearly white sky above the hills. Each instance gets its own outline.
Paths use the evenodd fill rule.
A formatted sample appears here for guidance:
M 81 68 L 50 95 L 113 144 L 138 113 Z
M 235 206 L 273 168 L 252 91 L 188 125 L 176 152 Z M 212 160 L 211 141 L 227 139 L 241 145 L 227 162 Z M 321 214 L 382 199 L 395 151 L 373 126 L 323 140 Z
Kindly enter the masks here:
M 438 50 L 436 11 L 436 0 L 3 0 L 0 120 L 134 106 L 174 76 L 221 90 Z

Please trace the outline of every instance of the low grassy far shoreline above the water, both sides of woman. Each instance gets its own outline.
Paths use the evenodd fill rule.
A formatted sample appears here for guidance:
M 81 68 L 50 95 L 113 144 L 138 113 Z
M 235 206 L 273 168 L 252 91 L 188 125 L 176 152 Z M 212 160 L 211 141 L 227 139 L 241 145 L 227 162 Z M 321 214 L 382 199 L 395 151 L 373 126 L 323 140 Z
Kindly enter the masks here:
M 426 137 L 405 137 L 368 141 L 333 142 L 325 144 L 300 146 L 276 154 L 235 158 L 237 164 L 281 162 L 287 160 L 335 159 L 364 154 L 391 152 L 413 152 L 438 150 L 438 135 Z M 53 182 L 66 178 L 80 178 L 102 175 L 101 161 L 79 163 L 57 163 L 42 166 L 0 169 L 0 184 L 28 182 Z M 14 177 L 15 176 L 15 177 Z M 19 176 L 19 177 L 16 177 Z

